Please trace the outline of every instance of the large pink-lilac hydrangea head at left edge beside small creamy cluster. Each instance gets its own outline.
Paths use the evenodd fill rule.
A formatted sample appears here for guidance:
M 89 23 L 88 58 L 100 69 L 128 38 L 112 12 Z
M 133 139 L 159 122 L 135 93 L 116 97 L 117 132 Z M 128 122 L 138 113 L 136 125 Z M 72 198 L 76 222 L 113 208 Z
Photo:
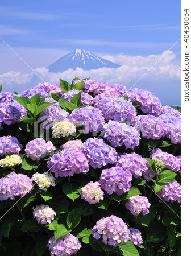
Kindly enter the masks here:
M 11 172 L 0 179 L 0 201 L 15 199 L 15 196 L 24 197 L 32 190 L 32 182 L 27 175 Z

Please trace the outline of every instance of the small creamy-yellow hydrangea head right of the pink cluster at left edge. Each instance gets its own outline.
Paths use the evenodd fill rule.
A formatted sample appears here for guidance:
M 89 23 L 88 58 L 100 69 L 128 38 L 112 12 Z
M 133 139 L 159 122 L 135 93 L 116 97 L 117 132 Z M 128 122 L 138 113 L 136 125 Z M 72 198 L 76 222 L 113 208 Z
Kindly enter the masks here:
M 55 177 L 53 177 L 52 174 L 48 174 L 45 172 L 44 174 L 39 174 L 36 172 L 32 175 L 31 181 L 35 181 L 35 183 L 38 185 L 38 187 L 41 190 L 47 191 L 47 188 L 50 186 L 55 186 Z

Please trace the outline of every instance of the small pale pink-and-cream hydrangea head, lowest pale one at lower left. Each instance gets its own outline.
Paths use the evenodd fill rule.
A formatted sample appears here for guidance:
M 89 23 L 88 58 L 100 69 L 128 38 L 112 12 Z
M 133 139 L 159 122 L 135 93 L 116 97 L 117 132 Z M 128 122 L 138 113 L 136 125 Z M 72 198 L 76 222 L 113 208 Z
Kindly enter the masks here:
M 52 210 L 47 204 L 36 205 L 36 208 L 33 209 L 34 218 L 41 224 L 51 224 L 52 220 L 56 216 L 56 212 Z

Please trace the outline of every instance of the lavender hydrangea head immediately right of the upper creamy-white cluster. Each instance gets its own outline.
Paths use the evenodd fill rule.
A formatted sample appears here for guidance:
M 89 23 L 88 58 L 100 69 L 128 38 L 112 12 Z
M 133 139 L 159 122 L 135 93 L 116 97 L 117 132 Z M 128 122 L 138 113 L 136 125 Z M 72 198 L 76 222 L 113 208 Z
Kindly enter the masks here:
M 74 109 L 72 114 L 70 114 L 70 121 L 76 125 L 82 125 L 84 134 L 88 134 L 91 131 L 99 133 L 105 123 L 101 110 L 92 106 Z

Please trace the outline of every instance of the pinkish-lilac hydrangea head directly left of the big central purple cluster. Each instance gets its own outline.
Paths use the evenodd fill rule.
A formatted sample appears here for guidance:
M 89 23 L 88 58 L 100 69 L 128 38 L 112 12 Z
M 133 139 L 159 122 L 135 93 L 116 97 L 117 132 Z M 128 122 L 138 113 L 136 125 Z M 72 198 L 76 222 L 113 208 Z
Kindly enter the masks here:
M 40 160 L 55 152 L 56 147 L 51 141 L 46 142 L 43 138 L 36 138 L 26 144 L 25 152 L 28 158 Z

